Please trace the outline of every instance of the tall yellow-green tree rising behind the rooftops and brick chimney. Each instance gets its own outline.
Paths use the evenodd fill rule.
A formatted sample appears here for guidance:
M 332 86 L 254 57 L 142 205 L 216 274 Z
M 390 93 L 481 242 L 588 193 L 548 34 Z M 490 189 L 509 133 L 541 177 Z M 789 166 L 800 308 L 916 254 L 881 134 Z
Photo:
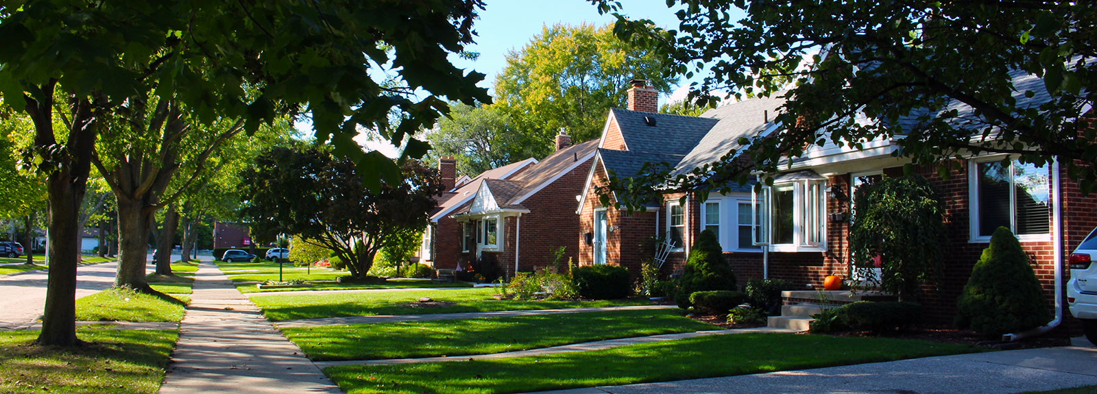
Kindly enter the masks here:
M 678 79 L 665 76 L 659 58 L 613 35 L 611 26 L 545 26 L 521 50 L 507 55 L 496 77 L 497 103 L 521 131 L 519 156 L 552 153 L 566 128 L 574 143 L 597 138 L 610 108 L 624 108 L 629 81 L 649 79 L 668 92 Z

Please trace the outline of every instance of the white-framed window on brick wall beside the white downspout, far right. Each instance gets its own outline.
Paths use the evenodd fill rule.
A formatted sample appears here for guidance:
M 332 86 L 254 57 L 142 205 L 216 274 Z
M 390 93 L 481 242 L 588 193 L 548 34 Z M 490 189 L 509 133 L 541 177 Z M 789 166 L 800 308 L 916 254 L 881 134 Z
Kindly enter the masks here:
M 1018 160 L 972 162 L 972 241 L 988 241 L 1006 227 L 1021 239 L 1048 239 L 1051 177 L 1047 167 Z

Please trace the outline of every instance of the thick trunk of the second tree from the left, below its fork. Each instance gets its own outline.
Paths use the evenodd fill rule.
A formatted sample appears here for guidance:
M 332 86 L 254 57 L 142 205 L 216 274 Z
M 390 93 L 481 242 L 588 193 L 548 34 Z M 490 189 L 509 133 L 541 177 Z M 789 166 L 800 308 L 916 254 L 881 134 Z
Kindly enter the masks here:
M 152 223 L 149 204 L 142 200 L 118 199 L 118 269 L 114 286 L 128 286 L 152 293 L 145 280 L 148 233 Z

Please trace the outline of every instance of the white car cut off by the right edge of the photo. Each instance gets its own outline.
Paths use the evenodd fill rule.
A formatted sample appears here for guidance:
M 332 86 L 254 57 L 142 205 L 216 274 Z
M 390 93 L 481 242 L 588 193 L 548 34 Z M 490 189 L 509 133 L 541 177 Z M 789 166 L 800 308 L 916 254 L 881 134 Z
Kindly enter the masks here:
M 1071 254 L 1071 281 L 1066 282 L 1066 303 L 1071 315 L 1082 320 L 1086 339 L 1097 345 L 1097 228 Z

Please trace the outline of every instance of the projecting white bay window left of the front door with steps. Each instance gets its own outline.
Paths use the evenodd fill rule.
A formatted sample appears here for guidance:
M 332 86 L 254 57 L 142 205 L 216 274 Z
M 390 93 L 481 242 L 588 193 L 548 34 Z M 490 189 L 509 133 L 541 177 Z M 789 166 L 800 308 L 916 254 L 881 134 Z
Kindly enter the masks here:
M 814 175 L 756 191 L 750 217 L 754 244 L 769 245 L 773 251 L 826 250 L 824 187 L 824 180 Z

